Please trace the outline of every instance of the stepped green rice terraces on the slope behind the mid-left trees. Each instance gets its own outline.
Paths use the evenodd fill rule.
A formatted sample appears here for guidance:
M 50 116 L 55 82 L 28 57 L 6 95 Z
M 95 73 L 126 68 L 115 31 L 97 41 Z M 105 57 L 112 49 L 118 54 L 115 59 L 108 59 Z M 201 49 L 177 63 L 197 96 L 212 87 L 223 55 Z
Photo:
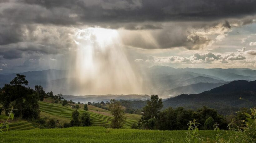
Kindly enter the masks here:
M 60 116 L 68 119 L 72 119 L 72 112 L 75 110 L 71 108 L 62 107 L 61 105 L 42 101 L 39 101 L 38 105 L 40 107 L 41 112 L 46 112 L 51 115 Z M 78 110 L 78 112 L 80 112 L 80 114 L 83 112 L 87 112 L 88 114 L 90 114 L 92 126 L 109 126 L 111 124 L 111 117 L 109 116 L 80 109 Z M 129 128 L 133 123 L 137 123 L 137 120 L 127 119 L 126 123 L 124 124 L 124 127 Z

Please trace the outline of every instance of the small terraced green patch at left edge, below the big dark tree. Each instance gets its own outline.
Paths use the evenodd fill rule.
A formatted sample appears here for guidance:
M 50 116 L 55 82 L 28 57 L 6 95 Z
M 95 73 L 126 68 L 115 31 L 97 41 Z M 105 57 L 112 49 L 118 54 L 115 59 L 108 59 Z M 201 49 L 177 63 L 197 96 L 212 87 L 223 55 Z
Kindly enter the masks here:
M 12 130 L 20 131 L 20 130 L 30 130 L 30 129 L 35 129 L 35 127 L 31 123 L 28 123 L 27 121 L 19 121 L 19 122 L 9 124 L 8 131 L 12 131 Z M 4 127 L 2 130 L 5 132 L 6 128 Z

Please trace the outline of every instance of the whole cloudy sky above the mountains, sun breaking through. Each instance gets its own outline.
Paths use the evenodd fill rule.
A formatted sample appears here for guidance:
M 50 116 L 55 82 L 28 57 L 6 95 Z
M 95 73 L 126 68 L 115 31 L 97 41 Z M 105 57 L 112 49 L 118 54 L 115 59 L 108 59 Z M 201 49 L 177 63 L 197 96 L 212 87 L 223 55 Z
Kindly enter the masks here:
M 0 74 L 102 62 L 81 55 L 88 45 L 101 45 L 94 56 L 116 56 L 107 61 L 122 59 L 119 65 L 131 68 L 256 69 L 255 6 L 254 0 L 0 0 Z M 102 49 L 106 41 L 120 49 Z

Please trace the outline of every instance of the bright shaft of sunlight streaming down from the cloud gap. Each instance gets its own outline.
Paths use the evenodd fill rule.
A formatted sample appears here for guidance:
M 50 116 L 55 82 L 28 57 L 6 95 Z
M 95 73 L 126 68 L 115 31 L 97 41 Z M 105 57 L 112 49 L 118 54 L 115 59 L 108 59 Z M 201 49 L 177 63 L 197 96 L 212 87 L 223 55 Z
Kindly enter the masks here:
M 70 86 L 78 95 L 141 93 L 140 76 L 134 72 L 113 29 L 78 30 L 74 68 L 70 68 Z

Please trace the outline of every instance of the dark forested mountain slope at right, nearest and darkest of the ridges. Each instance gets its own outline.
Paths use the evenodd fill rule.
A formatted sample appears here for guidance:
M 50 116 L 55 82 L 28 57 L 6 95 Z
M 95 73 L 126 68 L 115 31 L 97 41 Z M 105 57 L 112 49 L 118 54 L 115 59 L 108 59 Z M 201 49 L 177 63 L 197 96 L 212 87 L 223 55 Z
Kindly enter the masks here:
M 256 81 L 233 81 L 199 94 L 181 94 L 165 100 L 163 104 L 165 108 L 197 109 L 208 106 L 230 114 L 242 107 L 256 107 Z

